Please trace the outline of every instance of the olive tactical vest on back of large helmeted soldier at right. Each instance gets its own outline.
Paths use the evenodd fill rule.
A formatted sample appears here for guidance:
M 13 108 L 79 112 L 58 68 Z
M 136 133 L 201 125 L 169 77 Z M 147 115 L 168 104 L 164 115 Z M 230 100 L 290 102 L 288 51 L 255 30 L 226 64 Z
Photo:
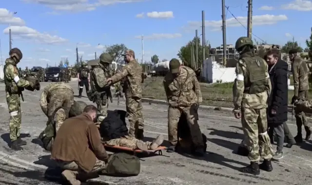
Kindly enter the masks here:
M 244 93 L 256 94 L 266 91 L 266 65 L 260 56 L 246 56 L 241 58 L 246 64 L 247 73 L 244 79 Z

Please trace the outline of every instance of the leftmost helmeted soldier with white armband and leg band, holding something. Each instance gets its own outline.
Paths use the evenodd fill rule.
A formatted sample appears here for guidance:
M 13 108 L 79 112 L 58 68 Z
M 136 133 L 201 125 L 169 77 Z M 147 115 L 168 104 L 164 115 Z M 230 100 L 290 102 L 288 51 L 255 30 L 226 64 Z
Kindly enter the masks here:
M 10 139 L 11 148 L 13 150 L 22 150 L 20 146 L 26 145 L 26 142 L 20 139 L 21 127 L 21 111 L 20 111 L 20 96 L 24 88 L 34 88 L 35 84 L 27 80 L 20 79 L 20 72 L 17 64 L 22 59 L 23 55 L 18 48 L 13 48 L 9 52 L 10 57 L 5 60 L 4 83 L 6 102 L 10 113 Z

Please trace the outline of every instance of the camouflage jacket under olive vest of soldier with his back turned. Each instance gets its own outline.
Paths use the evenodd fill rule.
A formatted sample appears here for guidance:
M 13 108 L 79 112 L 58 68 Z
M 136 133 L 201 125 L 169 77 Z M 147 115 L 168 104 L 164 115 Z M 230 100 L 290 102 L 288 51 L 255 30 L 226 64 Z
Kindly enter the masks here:
M 246 53 L 246 55 L 251 55 L 252 52 Z M 244 57 L 244 56 L 242 56 Z M 247 65 L 246 63 L 239 59 L 236 64 L 236 79 L 233 84 L 233 103 L 234 103 L 234 112 L 240 112 L 241 107 L 243 108 L 251 108 L 251 109 L 262 109 L 267 107 L 267 99 L 269 94 L 271 93 L 272 86 L 270 81 L 270 76 L 268 72 L 268 64 L 262 59 L 264 65 L 266 66 L 266 73 L 263 74 L 266 76 L 266 91 L 260 92 L 256 94 L 244 93 L 245 90 L 245 79 L 248 78 L 247 74 Z

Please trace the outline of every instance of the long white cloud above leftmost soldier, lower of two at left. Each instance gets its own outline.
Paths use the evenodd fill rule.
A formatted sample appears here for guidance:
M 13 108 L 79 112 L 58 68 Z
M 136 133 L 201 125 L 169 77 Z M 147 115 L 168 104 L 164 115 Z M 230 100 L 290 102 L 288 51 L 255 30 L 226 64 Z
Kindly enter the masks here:
M 4 34 L 9 34 L 9 27 L 3 30 Z M 21 38 L 31 39 L 42 44 L 59 44 L 67 42 L 68 40 L 59 36 L 51 36 L 46 33 L 29 28 L 27 26 L 11 26 L 12 35 L 17 35 Z

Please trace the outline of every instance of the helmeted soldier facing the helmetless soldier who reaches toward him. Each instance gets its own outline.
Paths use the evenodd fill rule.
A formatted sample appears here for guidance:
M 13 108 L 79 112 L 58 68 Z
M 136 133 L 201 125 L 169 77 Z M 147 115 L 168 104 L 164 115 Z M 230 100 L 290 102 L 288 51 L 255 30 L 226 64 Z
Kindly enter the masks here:
M 102 122 L 107 116 L 108 98 L 112 98 L 110 87 L 106 86 L 106 79 L 110 77 L 109 65 L 113 58 L 109 54 L 101 54 L 99 56 L 98 65 L 91 71 L 91 91 L 88 92 L 88 97 L 93 96 L 90 100 L 95 101 L 98 106 L 98 122 Z M 93 95 L 91 95 L 93 94 Z

